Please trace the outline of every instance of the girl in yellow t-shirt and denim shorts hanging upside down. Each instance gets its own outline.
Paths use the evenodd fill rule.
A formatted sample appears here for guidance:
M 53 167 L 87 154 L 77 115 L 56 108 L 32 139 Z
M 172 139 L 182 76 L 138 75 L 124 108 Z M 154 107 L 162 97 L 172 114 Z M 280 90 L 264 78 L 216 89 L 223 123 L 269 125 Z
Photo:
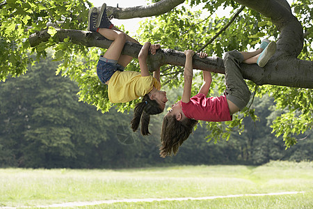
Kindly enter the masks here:
M 102 83 L 108 85 L 109 100 L 119 103 L 143 97 L 142 102 L 136 104 L 131 127 L 136 131 L 141 121 L 141 134 L 150 134 L 148 130 L 150 115 L 163 112 L 168 101 L 166 92 L 160 91 L 160 69 L 154 71 L 152 77 L 146 63 L 148 52 L 156 54 L 161 46 L 145 42 L 138 54 L 141 72 L 124 71 L 133 59 L 131 56 L 121 54 L 125 42 L 139 42 L 111 24 L 106 16 L 106 3 L 101 8 L 90 9 L 88 31 L 98 32 L 105 38 L 113 40 L 109 49 L 99 57 L 97 63 L 97 75 Z

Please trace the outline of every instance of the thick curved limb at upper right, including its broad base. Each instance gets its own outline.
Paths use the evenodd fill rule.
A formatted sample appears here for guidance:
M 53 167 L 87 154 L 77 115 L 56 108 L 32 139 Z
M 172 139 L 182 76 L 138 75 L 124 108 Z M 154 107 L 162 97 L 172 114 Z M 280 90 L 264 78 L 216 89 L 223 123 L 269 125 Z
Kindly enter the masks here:
M 285 0 L 235 0 L 247 6 L 271 21 L 280 31 L 277 40 L 277 50 L 273 58 L 262 70 L 259 80 L 255 75 L 246 75 L 256 84 L 275 84 L 281 86 L 294 86 L 312 88 L 313 62 L 297 59 L 303 49 L 303 27 L 294 15 Z M 244 66 L 243 68 L 249 68 Z M 248 72 L 245 70 L 245 72 Z

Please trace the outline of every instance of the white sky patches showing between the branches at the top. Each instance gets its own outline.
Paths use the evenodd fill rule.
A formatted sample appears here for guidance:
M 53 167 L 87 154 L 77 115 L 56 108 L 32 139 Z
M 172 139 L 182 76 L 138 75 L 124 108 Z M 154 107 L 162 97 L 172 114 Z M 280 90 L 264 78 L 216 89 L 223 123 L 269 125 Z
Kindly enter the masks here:
M 133 6 L 143 6 L 147 5 L 147 3 L 151 3 L 150 1 L 146 0 L 89 0 L 90 2 L 93 3 L 94 6 L 102 6 L 102 3 L 106 3 L 106 6 L 113 6 L 116 7 L 118 3 L 118 7 L 120 8 L 127 8 L 127 7 L 133 7 Z M 289 4 L 291 4 L 292 1 L 294 0 L 287 0 Z M 200 9 L 201 7 L 198 7 Z M 223 13 L 223 11 L 219 11 L 220 14 Z M 218 15 L 218 13 L 217 13 Z M 138 29 L 138 22 L 143 20 L 143 18 L 133 18 L 129 20 L 117 20 L 113 19 L 111 22 L 113 24 L 116 24 L 117 26 L 123 24 L 125 26 L 125 30 L 129 31 L 131 34 L 136 33 Z

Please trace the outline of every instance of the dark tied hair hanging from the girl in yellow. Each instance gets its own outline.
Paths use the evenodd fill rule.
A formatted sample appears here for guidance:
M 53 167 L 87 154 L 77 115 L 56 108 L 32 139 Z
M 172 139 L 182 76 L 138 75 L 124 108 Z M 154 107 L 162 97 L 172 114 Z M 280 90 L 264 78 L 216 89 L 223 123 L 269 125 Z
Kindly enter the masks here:
M 163 109 L 160 107 L 160 104 L 156 100 L 150 100 L 149 95 L 146 94 L 143 100 L 135 106 L 134 117 L 131 120 L 131 128 L 136 132 L 141 122 L 141 134 L 143 134 L 143 136 L 150 134 L 150 115 L 161 114 L 161 112 L 163 112 Z

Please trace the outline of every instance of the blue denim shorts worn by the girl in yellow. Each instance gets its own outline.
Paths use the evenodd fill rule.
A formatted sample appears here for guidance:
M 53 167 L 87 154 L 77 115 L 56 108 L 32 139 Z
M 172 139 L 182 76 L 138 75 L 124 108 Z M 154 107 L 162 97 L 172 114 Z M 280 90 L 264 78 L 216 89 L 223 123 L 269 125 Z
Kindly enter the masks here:
M 118 63 L 118 61 L 113 59 L 106 59 L 103 56 L 99 57 L 97 63 L 97 75 L 102 83 L 106 83 L 112 77 L 112 75 L 117 71 L 124 71 L 124 67 Z

